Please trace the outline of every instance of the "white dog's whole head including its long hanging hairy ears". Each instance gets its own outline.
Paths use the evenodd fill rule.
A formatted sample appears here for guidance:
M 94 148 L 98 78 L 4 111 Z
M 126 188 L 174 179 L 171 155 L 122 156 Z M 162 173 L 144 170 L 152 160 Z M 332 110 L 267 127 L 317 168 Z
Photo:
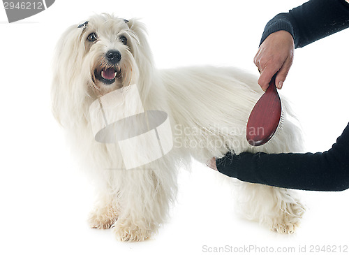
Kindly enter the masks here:
M 54 115 L 87 118 L 91 101 L 115 89 L 149 83 L 152 57 L 144 25 L 102 14 L 61 36 L 54 59 Z M 146 84 L 148 85 L 148 84 Z

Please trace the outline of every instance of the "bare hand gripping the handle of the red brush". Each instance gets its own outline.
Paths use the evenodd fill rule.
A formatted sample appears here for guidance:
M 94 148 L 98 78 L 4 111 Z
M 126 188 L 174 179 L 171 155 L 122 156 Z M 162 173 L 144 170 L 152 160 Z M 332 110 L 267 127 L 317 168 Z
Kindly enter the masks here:
M 260 71 L 258 84 L 266 91 L 270 80 L 275 73 L 275 84 L 281 89 L 288 71 L 292 65 L 295 44 L 293 38 L 288 31 L 276 31 L 270 34 L 260 45 L 253 62 Z

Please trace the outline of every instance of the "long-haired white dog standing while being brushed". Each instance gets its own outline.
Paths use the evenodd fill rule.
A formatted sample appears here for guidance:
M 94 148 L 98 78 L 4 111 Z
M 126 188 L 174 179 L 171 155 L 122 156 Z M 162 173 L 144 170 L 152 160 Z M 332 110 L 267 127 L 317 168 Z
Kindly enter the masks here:
M 246 122 L 262 94 L 257 78 L 236 68 L 213 66 L 158 70 L 138 20 L 103 14 L 73 25 L 58 43 L 54 64 L 54 115 L 68 131 L 98 191 L 89 222 L 93 228 L 112 227 L 119 240 L 141 241 L 156 233 L 176 196 L 177 172 L 190 166 L 191 158 L 207 163 L 229 150 L 302 150 L 285 100 L 279 135 L 261 147 L 248 145 Z M 127 170 L 118 147 L 94 139 L 89 106 L 99 96 L 134 84 L 144 109 L 168 113 L 174 146 L 161 159 Z M 244 217 L 280 233 L 295 230 L 304 206 L 290 191 L 245 182 L 237 187 Z

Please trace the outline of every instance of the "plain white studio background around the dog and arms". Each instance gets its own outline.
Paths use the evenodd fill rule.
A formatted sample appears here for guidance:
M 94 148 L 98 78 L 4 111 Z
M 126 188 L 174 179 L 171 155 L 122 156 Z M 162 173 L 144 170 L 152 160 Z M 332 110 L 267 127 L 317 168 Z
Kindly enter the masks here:
M 265 24 L 297 1 L 68 1 L 8 24 L 0 10 L 0 254 L 202 254 L 208 247 L 349 245 L 349 191 L 299 191 L 309 207 L 294 235 L 237 217 L 230 189 L 195 163 L 154 240 L 121 243 L 90 229 L 92 189 L 50 112 L 52 52 L 70 24 L 94 13 L 142 17 L 158 68 L 210 64 L 258 74 Z M 309 152 L 328 150 L 348 124 L 349 30 L 298 49 L 281 94 L 294 103 Z M 339 252 L 339 248 L 336 249 Z M 348 251 L 349 253 L 349 251 Z

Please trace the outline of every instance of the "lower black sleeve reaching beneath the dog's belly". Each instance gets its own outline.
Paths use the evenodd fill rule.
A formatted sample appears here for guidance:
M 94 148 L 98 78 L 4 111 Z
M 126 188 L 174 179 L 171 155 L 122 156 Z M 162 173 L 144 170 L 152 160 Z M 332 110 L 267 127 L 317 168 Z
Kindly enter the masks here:
M 216 160 L 219 172 L 244 182 L 288 189 L 342 191 L 349 188 L 349 124 L 323 153 L 228 153 Z

